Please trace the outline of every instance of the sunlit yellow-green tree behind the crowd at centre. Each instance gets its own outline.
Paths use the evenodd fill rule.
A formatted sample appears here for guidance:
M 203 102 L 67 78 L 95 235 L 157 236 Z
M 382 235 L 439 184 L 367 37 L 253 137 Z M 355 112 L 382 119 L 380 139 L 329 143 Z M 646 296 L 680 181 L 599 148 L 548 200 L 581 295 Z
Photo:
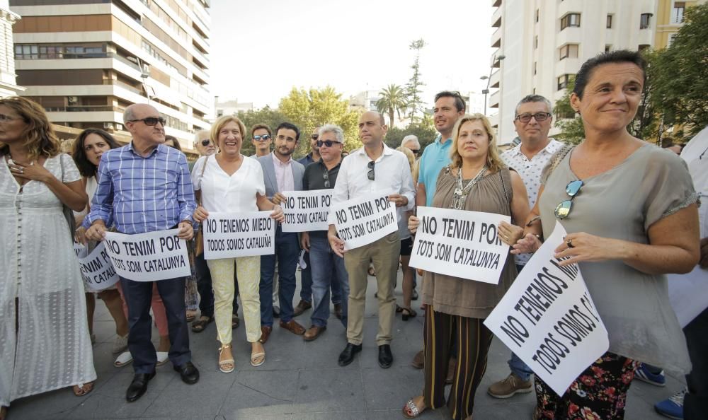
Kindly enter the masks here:
M 302 133 L 300 144 L 295 151 L 299 158 L 309 153 L 309 136 L 315 127 L 323 124 L 337 124 L 344 131 L 344 149 L 347 151 L 361 147 L 358 134 L 359 112 L 349 109 L 349 101 L 334 88 L 309 91 L 292 88 L 290 94 L 280 100 L 278 110 Z

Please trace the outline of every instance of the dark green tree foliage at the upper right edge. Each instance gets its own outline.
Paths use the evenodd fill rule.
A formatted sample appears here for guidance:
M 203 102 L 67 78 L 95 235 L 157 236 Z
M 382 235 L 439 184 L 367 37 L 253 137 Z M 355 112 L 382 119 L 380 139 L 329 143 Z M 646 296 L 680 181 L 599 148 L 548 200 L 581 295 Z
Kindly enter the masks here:
M 708 4 L 692 6 L 670 47 L 656 57 L 651 104 L 663 115 L 663 124 L 685 126 L 685 139 L 708 125 L 707 40 Z

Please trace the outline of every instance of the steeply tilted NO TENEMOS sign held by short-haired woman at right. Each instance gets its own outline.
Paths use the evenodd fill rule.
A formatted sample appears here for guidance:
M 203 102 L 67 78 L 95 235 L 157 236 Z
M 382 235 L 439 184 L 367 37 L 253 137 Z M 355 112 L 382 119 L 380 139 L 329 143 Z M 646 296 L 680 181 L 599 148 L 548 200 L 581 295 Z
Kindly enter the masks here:
M 559 222 L 484 321 L 558 395 L 610 347 L 577 264 L 554 257 L 566 231 Z

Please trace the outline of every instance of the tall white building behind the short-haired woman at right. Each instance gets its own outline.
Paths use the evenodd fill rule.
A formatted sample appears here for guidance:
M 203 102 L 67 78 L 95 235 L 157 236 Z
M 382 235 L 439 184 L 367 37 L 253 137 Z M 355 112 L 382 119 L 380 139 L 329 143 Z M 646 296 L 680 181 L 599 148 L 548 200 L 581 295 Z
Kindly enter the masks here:
M 537 93 L 554 103 L 590 57 L 612 49 L 653 47 L 660 0 L 492 0 L 496 8 L 489 96 L 500 144 L 516 136 L 514 107 Z M 668 1 L 668 3 L 678 3 Z M 502 60 L 496 59 L 503 55 Z M 563 116 L 556 116 L 563 117 Z M 553 132 L 552 132 L 553 133 Z

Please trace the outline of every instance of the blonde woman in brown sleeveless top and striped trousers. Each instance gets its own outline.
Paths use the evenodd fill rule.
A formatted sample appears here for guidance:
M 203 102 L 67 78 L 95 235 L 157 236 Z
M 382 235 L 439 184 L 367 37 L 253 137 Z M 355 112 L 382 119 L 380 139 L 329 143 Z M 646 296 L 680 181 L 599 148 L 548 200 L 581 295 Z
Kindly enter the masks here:
M 501 161 L 489 120 L 481 114 L 464 115 L 452 129 L 452 163 L 438 175 L 433 207 L 511 216 L 523 223 L 529 211 L 521 177 Z M 418 227 L 411 216 L 411 232 Z M 501 223 L 499 238 L 508 245 L 521 238 L 523 229 Z M 445 405 L 445 378 L 452 340 L 456 340 L 457 369 L 447 397 L 452 419 L 469 419 L 474 393 L 486 369 L 492 333 L 482 323 L 508 290 L 516 276 L 509 255 L 495 284 L 433 272 L 423 277 L 426 304 L 425 385 L 423 395 L 406 402 L 404 416 L 413 418 L 430 407 Z M 453 333 L 454 332 L 454 333 Z

